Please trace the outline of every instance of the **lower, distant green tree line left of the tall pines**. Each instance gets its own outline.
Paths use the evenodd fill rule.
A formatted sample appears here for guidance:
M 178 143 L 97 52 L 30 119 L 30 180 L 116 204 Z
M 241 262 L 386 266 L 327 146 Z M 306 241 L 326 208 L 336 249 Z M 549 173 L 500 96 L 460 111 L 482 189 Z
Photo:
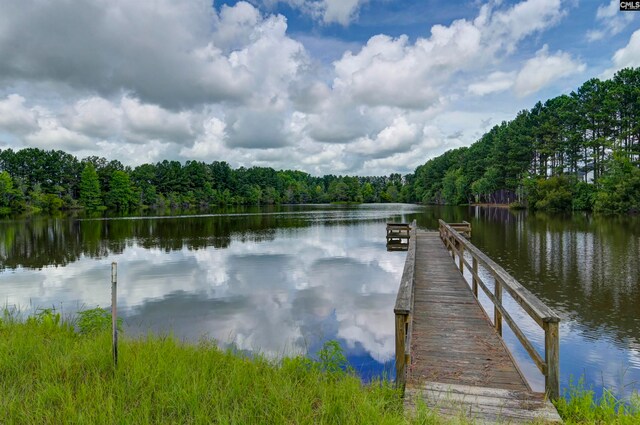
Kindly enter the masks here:
M 0 214 L 153 209 L 206 209 L 219 205 L 409 201 L 400 174 L 325 175 L 269 167 L 233 169 L 224 161 L 164 160 L 137 167 L 60 150 L 0 151 Z

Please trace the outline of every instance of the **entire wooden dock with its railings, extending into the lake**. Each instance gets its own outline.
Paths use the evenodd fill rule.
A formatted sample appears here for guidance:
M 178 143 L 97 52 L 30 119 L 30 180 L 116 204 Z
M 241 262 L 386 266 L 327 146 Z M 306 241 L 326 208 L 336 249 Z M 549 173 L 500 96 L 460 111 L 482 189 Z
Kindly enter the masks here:
M 405 408 L 421 399 L 440 414 L 479 423 L 561 422 L 549 401 L 559 391 L 559 319 L 474 247 L 465 237 L 470 233 L 468 223 L 441 222 L 440 232 L 417 231 L 412 223 L 395 307 L 396 382 L 405 388 Z M 465 265 L 471 285 L 461 273 Z M 495 278 L 493 292 L 479 265 Z M 493 323 L 477 301 L 478 287 L 494 302 Z M 545 330 L 544 360 L 504 309 L 503 288 Z M 523 377 L 502 340 L 503 321 L 545 374 L 546 394 L 532 391 Z

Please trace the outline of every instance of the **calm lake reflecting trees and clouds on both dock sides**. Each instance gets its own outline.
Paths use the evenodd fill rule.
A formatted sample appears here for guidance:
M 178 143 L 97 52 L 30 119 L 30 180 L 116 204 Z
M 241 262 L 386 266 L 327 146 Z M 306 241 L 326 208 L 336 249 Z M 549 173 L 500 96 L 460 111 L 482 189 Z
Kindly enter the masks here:
M 435 230 L 438 218 L 471 222 L 472 243 L 561 316 L 563 387 L 571 376 L 597 393 L 640 387 L 638 217 L 383 204 L 2 220 L 0 303 L 26 314 L 109 307 L 115 261 L 128 335 L 214 338 L 272 358 L 313 356 L 335 339 L 364 380 L 393 378 L 393 306 L 406 253 L 387 252 L 385 223 L 416 219 Z M 513 315 L 542 347 L 537 325 Z M 506 329 L 524 374 L 543 390 Z

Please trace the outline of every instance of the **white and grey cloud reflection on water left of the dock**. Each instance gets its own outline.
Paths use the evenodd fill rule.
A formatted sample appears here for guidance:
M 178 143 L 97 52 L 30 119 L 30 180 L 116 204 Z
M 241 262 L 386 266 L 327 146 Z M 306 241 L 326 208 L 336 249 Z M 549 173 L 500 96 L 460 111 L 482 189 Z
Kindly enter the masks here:
M 242 239 L 224 249 L 169 252 L 134 241 L 108 258 L 19 268 L 7 303 L 66 312 L 108 306 L 109 264 L 116 261 L 119 310 L 130 334 L 205 336 L 269 357 L 339 339 L 347 354 L 364 350 L 379 363 L 393 358 L 404 253 L 386 252 L 383 224 L 278 229 L 270 240 Z

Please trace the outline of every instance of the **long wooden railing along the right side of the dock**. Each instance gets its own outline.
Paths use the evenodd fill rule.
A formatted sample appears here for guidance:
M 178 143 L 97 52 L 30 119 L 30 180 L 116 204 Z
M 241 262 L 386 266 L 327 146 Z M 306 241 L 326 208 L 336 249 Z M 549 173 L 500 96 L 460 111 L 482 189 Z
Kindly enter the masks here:
M 513 276 L 507 273 L 500 265 L 490 259 L 486 254 L 476 248 L 463 237 L 453 226 L 439 220 L 440 238 L 452 258 L 458 257 L 458 268 L 464 274 L 464 267 L 471 273 L 471 289 L 476 299 L 478 298 L 478 286 L 482 288 L 489 300 L 493 303 L 493 323 L 496 331 L 502 335 L 502 321 L 504 320 L 516 335 L 522 346 L 545 377 L 545 392 L 551 400 L 560 396 L 560 317 L 547 307 L 538 297 L 529 292 Z M 470 227 L 470 226 L 469 226 Z M 470 228 L 469 228 L 470 230 Z M 464 252 L 469 253 L 472 263 L 464 257 Z M 478 265 L 482 265 L 495 279 L 494 292 L 492 293 L 478 274 Z M 502 304 L 502 291 L 506 290 L 511 297 L 531 316 L 531 318 L 544 330 L 544 360 L 533 344 L 516 324 L 511 315 Z M 399 295 L 398 295 L 399 297 Z M 397 302 L 396 302 L 397 305 Z M 398 316 L 396 313 L 396 333 Z M 397 339 L 396 339 L 397 344 Z M 397 361 L 397 359 L 396 359 Z

